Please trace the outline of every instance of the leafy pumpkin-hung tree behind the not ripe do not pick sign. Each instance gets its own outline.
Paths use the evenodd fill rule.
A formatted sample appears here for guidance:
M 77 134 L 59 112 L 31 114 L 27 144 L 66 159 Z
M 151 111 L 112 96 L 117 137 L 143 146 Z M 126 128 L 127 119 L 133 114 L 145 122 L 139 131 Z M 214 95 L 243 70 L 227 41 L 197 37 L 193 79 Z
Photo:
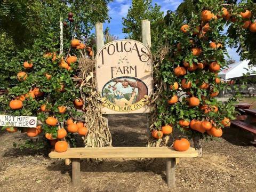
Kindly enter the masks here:
M 108 1 L 102 2 L 107 4 Z M 37 116 L 38 119 L 36 128 L 4 126 L 2 129 L 8 132 L 26 132 L 28 137 L 36 137 L 43 132 L 44 138 L 49 140 L 58 152 L 67 150 L 66 141 L 74 144 L 72 142 L 75 140 L 74 133 L 84 137 L 88 132 L 85 112 L 91 101 L 85 101 L 82 92 L 86 90 L 89 92 L 87 96 L 91 96 L 89 86 L 91 82 L 86 81 L 87 84 L 82 87 L 81 82 L 83 83 L 84 79 L 77 81 L 77 76 L 84 71 L 81 71 L 76 55 L 82 55 L 82 58 L 89 57 L 91 60 L 93 50 L 85 43 L 74 39 L 74 36 L 84 38 L 82 34 L 89 33 L 94 19 L 98 21 L 103 16 L 107 16 L 106 10 L 101 10 L 102 6 L 99 10 L 94 10 L 99 12 L 96 14 L 98 18 L 92 16 L 82 21 L 84 14 L 80 14 L 79 11 L 86 12 L 84 9 L 74 11 L 74 14 L 70 12 L 77 4 L 79 3 L 65 5 L 53 2 L 54 10 L 52 6 L 46 6 L 47 9 L 43 12 L 45 15 L 50 10 L 53 11 L 49 18 L 52 21 L 49 26 L 46 25 L 49 20 L 42 18 L 43 21 L 47 21 L 42 25 L 48 31 L 42 37 L 38 37 L 33 46 L 11 60 L 10 76 L 15 85 L 7 90 L 8 94 L 0 98 L 1 105 L 5 109 L 4 115 Z M 57 12 L 60 14 L 59 21 L 53 17 Z M 62 18 L 67 18 L 65 19 L 67 21 Z M 35 147 L 31 141 L 26 142 L 27 147 Z M 105 143 L 102 143 L 102 146 L 105 146 Z M 42 143 L 37 142 L 37 144 Z

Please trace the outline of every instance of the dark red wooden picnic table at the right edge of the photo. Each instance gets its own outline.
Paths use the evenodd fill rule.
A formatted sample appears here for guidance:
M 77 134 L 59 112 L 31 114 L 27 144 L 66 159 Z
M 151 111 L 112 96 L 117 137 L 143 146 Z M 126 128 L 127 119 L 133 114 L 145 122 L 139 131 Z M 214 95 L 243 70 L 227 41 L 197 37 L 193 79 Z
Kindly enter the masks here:
M 254 140 L 251 141 L 253 145 L 256 145 L 256 109 L 243 109 L 246 118 L 244 121 L 236 119 L 231 121 L 231 124 L 239 127 L 243 130 L 249 131 L 253 134 Z

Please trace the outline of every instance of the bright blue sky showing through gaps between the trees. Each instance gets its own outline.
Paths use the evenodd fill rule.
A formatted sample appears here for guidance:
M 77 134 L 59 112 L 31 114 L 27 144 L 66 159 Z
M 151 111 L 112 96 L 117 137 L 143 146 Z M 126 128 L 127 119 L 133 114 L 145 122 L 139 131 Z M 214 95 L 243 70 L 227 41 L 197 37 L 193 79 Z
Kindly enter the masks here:
M 166 13 L 167 10 L 176 10 L 180 0 L 153 0 L 153 4 L 157 3 L 161 5 L 161 10 Z M 109 16 L 112 18 L 110 23 L 104 23 L 103 27 L 109 27 L 110 33 L 118 36 L 119 39 L 123 39 L 126 34 L 122 33 L 122 18 L 126 17 L 129 7 L 132 5 L 132 0 L 114 0 L 114 2 L 109 3 Z M 239 56 L 236 54 L 236 50 L 229 49 L 228 53 L 231 58 L 239 61 Z

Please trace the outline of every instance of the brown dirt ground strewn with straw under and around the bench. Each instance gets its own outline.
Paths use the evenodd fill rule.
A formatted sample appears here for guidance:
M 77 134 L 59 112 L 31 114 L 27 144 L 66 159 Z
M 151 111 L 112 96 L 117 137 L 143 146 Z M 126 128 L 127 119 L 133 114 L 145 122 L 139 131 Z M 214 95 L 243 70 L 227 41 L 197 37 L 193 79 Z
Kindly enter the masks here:
M 146 146 L 145 115 L 109 118 L 113 146 Z M 202 158 L 183 158 L 176 166 L 176 188 L 165 183 L 165 161 L 107 159 L 81 164 L 82 186 L 71 185 L 71 166 L 45 151 L 19 150 L 21 133 L 0 132 L 0 191 L 256 191 L 256 147 L 252 135 L 233 127 L 223 137 L 203 141 Z

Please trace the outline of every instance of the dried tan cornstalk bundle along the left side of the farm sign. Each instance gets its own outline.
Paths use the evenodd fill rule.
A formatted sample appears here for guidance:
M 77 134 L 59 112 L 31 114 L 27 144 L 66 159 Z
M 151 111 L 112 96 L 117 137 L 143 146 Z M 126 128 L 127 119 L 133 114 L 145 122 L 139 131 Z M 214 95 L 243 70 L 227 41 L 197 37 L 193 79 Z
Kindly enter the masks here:
M 82 51 L 81 51 L 82 53 Z M 83 138 L 85 147 L 111 147 L 112 139 L 107 119 L 102 116 L 101 95 L 96 89 L 95 60 L 81 54 L 78 60 L 79 74 L 74 78 L 80 89 L 85 105 L 84 121 L 87 125 L 87 136 Z

